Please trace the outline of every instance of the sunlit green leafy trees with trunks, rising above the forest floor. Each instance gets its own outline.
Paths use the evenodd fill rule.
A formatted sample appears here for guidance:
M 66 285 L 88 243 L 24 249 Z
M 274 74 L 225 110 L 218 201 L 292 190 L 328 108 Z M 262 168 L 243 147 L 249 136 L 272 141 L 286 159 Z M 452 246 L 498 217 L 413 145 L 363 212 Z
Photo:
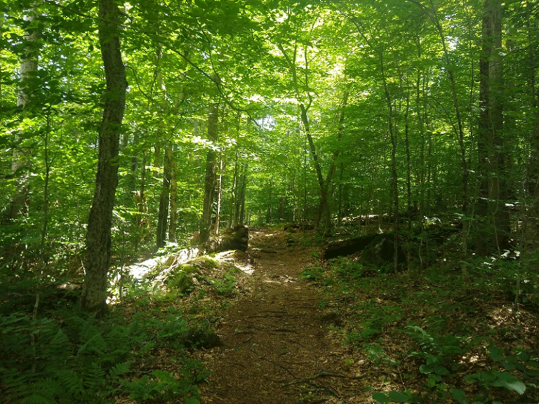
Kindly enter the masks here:
M 102 311 L 120 257 L 366 215 L 397 243 L 443 217 L 463 258 L 512 245 L 537 262 L 535 2 L 0 9 L 3 277 L 84 269 L 83 305 Z

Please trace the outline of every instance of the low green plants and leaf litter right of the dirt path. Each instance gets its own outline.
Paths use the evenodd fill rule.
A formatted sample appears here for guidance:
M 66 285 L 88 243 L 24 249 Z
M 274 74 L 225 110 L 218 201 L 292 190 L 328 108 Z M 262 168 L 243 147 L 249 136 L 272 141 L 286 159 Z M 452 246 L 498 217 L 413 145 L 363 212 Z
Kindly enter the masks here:
M 325 286 L 319 307 L 338 316 L 328 328 L 354 348 L 350 362 L 368 365 L 358 372 L 385 379 L 370 388 L 379 403 L 539 402 L 537 310 L 512 300 L 520 278 L 520 302 L 534 302 L 535 278 L 514 260 L 465 265 L 473 281 L 449 264 L 421 278 L 345 258 L 302 276 Z

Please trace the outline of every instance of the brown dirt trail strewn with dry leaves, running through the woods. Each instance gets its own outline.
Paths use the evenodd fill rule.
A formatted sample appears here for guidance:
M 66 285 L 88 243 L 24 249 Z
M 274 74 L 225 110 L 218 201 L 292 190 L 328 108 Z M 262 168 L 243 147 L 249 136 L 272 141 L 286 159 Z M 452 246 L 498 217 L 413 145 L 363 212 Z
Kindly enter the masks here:
M 201 386 L 203 404 L 372 402 L 361 375 L 347 371 L 347 348 L 327 330 L 323 290 L 300 278 L 312 248 L 288 245 L 290 236 L 251 229 L 253 292 L 222 314 L 225 345 L 204 355 L 211 375 Z

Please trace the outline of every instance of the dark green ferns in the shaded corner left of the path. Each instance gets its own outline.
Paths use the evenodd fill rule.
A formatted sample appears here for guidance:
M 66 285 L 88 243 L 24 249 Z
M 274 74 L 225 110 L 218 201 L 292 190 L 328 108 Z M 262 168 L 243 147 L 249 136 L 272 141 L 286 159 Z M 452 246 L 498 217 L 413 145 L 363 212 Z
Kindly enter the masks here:
M 199 403 L 196 384 L 206 372 L 178 342 L 187 325 L 174 309 L 129 321 L 114 313 L 97 321 L 76 308 L 36 319 L 15 312 L 0 316 L 0 330 L 3 403 L 111 403 L 120 395 L 138 403 L 179 397 Z M 168 351 L 180 375 L 152 369 L 159 350 Z

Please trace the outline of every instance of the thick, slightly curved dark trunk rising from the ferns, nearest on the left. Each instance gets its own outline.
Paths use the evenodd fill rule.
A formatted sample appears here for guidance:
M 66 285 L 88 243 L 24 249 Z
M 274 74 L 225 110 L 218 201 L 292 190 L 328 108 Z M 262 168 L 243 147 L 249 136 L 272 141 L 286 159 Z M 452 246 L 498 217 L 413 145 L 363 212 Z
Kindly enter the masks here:
M 111 253 L 114 196 L 118 185 L 118 149 L 126 106 L 126 72 L 121 60 L 120 12 L 114 0 L 99 1 L 99 42 L 107 90 L 99 132 L 98 172 L 86 236 L 86 268 L 81 305 L 98 317 L 107 311 L 107 273 Z

